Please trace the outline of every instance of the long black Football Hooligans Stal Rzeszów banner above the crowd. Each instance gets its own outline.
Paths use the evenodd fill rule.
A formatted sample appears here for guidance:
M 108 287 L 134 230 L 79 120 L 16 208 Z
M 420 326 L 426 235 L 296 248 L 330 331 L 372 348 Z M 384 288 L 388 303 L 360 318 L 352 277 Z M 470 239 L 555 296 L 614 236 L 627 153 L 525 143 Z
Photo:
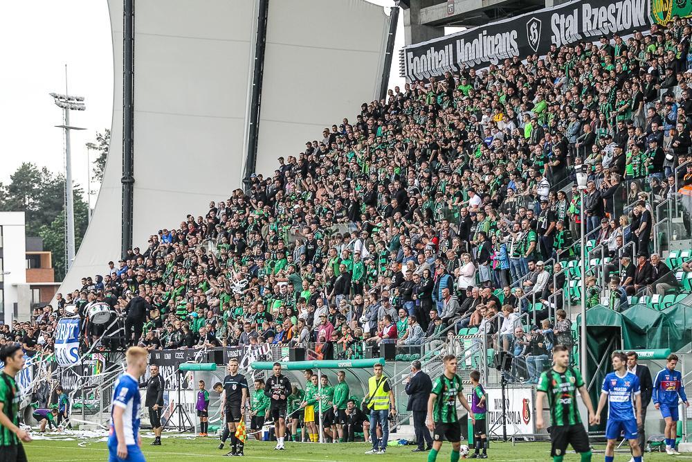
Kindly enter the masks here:
M 427 80 L 446 71 L 482 68 L 514 56 L 545 55 L 551 44 L 595 42 L 601 35 L 644 32 L 677 15 L 692 14 L 692 0 L 577 0 L 487 26 L 464 30 L 401 51 L 401 77 Z

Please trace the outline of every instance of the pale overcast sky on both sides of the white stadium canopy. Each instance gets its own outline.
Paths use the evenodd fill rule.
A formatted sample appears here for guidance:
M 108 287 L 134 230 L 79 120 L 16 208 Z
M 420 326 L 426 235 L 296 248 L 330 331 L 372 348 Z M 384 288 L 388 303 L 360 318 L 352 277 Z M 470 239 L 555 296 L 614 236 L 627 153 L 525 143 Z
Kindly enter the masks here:
M 383 6 L 393 3 L 368 1 Z M 97 131 L 111 127 L 113 57 L 107 1 L 3 1 L 2 12 L 0 43 L 6 44 L 6 65 L 0 73 L 4 94 L 0 111 L 0 181 L 6 184 L 23 161 L 46 166 L 53 172 L 63 170 L 64 136 L 55 127 L 62 124 L 62 109 L 48 94 L 65 93 L 67 64 L 68 91 L 84 96 L 86 103 L 85 112 L 70 114 L 71 125 L 86 129 L 72 132 L 73 177 L 75 184 L 84 187 L 88 171 L 84 145 L 95 140 Z M 399 78 L 401 46 L 403 15 L 399 15 L 390 88 L 403 85 Z M 91 204 L 95 204 L 95 198 L 91 197 Z

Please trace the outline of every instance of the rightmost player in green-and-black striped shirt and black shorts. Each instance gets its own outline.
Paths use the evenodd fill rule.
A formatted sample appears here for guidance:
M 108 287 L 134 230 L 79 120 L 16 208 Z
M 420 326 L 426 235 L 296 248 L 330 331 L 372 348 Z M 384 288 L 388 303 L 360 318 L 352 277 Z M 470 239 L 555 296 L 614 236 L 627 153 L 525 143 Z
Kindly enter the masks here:
M 589 436 L 579 417 L 576 391 L 589 411 L 589 423 L 595 423 L 594 407 L 579 371 L 570 367 L 570 352 L 564 345 L 553 348 L 554 366 L 540 375 L 536 389 L 536 429 L 543 424 L 543 398 L 547 395 L 550 407 L 550 455 L 554 462 L 562 462 L 567 445 L 581 454 L 581 462 L 591 461 Z

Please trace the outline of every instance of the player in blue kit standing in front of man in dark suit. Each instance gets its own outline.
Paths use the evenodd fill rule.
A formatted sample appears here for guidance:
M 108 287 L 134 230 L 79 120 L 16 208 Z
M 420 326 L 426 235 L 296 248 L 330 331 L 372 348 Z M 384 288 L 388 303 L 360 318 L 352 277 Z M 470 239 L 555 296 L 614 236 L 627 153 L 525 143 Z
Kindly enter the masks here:
M 601 411 L 605 407 L 605 402 L 608 402 L 608 423 L 605 425 L 608 445 L 605 446 L 605 462 L 613 461 L 615 444 L 620 434 L 625 434 L 625 438 L 630 442 L 634 462 L 641 462 L 641 448 L 637 435 L 637 424 L 641 422 L 639 377 L 628 372 L 627 355 L 619 351 L 612 354 L 612 369 L 613 371 L 603 380 L 601 399 L 596 411 L 596 418 L 600 420 Z

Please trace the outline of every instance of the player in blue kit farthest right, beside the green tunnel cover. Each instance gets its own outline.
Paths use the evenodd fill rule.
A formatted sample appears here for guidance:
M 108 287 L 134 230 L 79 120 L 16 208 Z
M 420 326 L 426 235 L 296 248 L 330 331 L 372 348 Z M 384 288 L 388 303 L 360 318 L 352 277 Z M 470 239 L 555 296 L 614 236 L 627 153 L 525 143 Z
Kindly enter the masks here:
M 651 400 L 656 409 L 661 410 L 661 415 L 666 421 L 664 435 L 666 438 L 666 453 L 671 455 L 680 454 L 675 450 L 675 440 L 677 438 L 677 420 L 679 420 L 677 407 L 679 399 L 689 407 L 690 403 L 685 394 L 685 386 L 682 383 L 682 373 L 675 371 L 677 366 L 677 355 L 669 355 L 666 358 L 666 368 L 656 374 L 653 381 Z

